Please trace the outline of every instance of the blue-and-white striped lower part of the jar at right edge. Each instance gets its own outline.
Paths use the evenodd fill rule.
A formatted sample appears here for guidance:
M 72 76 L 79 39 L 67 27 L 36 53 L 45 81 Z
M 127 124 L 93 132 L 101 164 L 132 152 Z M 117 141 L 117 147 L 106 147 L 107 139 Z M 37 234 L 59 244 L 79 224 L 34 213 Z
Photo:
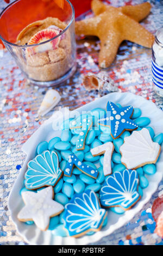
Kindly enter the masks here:
M 152 59 L 152 81 L 156 87 L 163 90 L 163 68 L 158 66 Z

